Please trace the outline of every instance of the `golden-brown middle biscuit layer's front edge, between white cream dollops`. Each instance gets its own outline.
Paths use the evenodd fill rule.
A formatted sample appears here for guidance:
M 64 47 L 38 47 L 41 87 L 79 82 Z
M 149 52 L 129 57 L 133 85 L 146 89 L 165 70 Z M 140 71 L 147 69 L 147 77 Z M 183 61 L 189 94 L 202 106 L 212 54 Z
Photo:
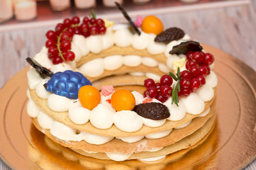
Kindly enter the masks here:
M 66 147 L 72 147 L 75 149 L 83 149 L 88 152 L 118 152 L 118 153 L 131 153 L 131 152 L 143 152 L 147 150 L 151 150 L 154 148 L 161 148 L 163 146 L 172 145 L 173 143 L 176 143 L 182 138 L 185 138 L 186 136 L 189 136 L 189 134 L 192 134 L 193 132 L 200 129 L 202 126 L 204 126 L 205 122 L 209 120 L 211 117 L 214 117 L 215 113 L 215 102 L 212 104 L 212 108 L 209 114 L 207 114 L 205 117 L 198 117 L 194 118 L 187 127 L 184 127 L 182 129 L 174 129 L 168 136 L 164 138 L 159 139 L 147 139 L 143 138 L 141 141 L 138 141 L 136 143 L 126 143 L 120 139 L 113 139 L 112 141 L 109 141 L 108 143 L 102 144 L 102 145 L 93 145 L 90 143 L 86 143 L 86 141 L 62 141 L 60 139 L 56 139 L 54 136 L 52 136 L 51 132 L 49 130 L 45 130 L 45 134 L 49 136 L 52 140 L 54 140 L 56 143 L 60 143 L 63 146 Z M 35 127 L 42 131 L 42 128 L 37 122 L 37 118 L 32 118 L 33 124 Z M 143 148 L 141 148 L 141 145 L 143 145 Z

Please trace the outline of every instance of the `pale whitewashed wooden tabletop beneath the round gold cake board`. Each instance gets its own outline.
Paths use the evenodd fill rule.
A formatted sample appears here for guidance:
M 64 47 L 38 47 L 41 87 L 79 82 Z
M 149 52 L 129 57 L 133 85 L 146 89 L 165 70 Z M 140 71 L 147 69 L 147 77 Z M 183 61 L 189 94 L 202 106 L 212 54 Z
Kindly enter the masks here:
M 140 11 L 138 11 L 140 14 Z M 180 27 L 192 38 L 220 48 L 256 70 L 256 1 L 250 5 L 158 15 L 164 27 Z M 1 26 L 0 26 L 1 27 Z M 0 32 L 0 88 L 28 66 L 52 27 Z M 1 147 L 1 146 L 0 146 Z M 0 169 L 10 169 L 0 160 Z M 244 169 L 256 169 L 256 160 Z

